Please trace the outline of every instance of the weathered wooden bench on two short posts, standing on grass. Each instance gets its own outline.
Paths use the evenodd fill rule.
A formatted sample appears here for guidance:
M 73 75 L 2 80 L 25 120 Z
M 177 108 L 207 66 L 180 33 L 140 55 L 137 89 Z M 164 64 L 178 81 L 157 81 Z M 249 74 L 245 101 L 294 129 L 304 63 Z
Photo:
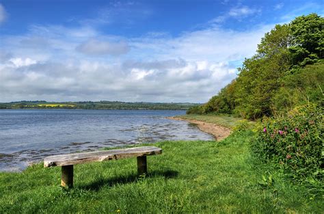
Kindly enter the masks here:
M 62 166 L 61 186 L 71 188 L 73 187 L 73 165 L 75 164 L 137 157 L 137 172 L 140 175 L 147 173 L 146 156 L 160 155 L 161 153 L 161 148 L 155 146 L 142 146 L 98 152 L 54 155 L 44 159 L 44 167 Z

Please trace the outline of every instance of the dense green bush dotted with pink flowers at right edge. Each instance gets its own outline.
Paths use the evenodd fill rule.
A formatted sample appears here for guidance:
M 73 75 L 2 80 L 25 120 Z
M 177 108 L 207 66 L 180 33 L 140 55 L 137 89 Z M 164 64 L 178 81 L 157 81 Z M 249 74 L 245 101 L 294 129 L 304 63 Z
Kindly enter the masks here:
M 252 142 L 258 159 L 279 165 L 295 180 L 323 180 L 323 107 L 312 103 L 264 118 Z

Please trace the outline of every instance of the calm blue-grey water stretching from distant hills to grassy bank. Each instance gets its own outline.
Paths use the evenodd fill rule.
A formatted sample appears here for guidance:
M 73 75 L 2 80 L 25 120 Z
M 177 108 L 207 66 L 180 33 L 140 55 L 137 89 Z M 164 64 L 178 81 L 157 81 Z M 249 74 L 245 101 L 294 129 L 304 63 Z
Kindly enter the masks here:
M 23 170 L 48 155 L 163 140 L 210 140 L 185 111 L 0 109 L 0 171 Z

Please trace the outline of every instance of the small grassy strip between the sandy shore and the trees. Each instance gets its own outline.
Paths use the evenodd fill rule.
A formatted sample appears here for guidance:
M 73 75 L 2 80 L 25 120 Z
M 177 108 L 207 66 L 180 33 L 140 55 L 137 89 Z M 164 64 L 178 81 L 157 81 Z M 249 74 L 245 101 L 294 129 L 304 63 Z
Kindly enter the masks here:
M 176 116 L 176 118 L 181 118 L 185 120 L 200 120 L 202 122 L 210 122 L 220 126 L 225 126 L 231 128 L 236 124 L 241 118 L 234 117 L 232 115 L 215 115 L 215 114 L 186 114 L 181 116 Z

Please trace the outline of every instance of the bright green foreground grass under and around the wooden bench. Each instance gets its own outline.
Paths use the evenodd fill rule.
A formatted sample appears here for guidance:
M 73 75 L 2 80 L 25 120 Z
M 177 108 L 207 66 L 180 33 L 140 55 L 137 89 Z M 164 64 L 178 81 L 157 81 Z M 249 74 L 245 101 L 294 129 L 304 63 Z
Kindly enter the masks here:
M 59 167 L 1 172 L 0 213 L 322 213 L 304 187 L 256 164 L 251 137 L 154 144 L 163 154 L 148 157 L 145 178 L 136 176 L 135 158 L 75 165 L 70 190 L 59 187 Z M 263 182 L 269 174 L 273 183 Z

